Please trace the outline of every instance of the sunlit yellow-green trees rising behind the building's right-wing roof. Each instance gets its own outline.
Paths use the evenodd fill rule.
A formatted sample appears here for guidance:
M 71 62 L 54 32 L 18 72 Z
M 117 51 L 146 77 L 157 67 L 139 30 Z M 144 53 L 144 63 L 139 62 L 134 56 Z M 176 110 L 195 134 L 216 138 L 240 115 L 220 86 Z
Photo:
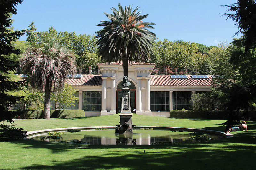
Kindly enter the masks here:
M 217 56 L 210 57 L 210 50 L 217 47 L 209 47 L 205 49 L 207 53 L 200 53 L 198 43 L 190 43 L 185 41 L 157 41 L 151 57 L 151 63 L 156 63 L 159 70 L 164 71 L 165 68 L 170 70 L 170 74 L 175 73 L 175 68 L 178 72 L 185 73 L 188 69 L 188 74 L 195 74 L 195 69 L 198 69 L 198 74 L 211 75 L 217 67 L 214 61 Z

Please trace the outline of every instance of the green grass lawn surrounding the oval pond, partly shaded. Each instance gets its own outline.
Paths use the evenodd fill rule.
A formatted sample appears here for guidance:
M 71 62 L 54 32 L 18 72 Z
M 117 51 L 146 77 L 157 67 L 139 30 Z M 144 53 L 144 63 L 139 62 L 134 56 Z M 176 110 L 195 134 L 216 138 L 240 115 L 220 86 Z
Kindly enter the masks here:
M 113 126 L 119 116 L 74 119 L 17 120 L 27 131 L 59 127 Z M 223 131 L 225 120 L 175 119 L 132 116 L 140 126 L 169 126 Z M 247 121 L 248 132 L 232 132 L 233 138 L 196 144 L 76 145 L 34 140 L 0 142 L 0 169 L 254 169 L 256 122 Z M 255 138 L 254 138 L 255 137 Z M 143 151 L 146 151 L 144 154 Z

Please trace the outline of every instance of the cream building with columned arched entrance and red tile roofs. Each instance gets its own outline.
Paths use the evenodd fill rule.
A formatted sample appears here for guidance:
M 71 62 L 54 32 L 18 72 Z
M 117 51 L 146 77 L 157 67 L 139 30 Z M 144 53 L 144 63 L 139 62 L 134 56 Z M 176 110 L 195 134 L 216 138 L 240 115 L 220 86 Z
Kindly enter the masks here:
M 79 90 L 79 104 L 85 116 L 116 114 L 121 110 L 123 67 L 120 63 L 98 63 L 102 75 L 76 75 L 66 83 Z M 137 114 L 169 117 L 170 110 L 191 109 L 190 97 L 210 91 L 212 76 L 151 75 L 155 64 L 129 65 L 131 111 Z

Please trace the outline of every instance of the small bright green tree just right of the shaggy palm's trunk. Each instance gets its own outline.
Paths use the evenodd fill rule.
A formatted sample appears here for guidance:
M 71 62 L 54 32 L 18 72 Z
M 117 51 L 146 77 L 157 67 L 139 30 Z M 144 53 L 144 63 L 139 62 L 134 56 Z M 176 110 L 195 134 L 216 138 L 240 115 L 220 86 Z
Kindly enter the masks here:
M 78 92 L 78 89 L 71 87 L 71 85 L 65 84 L 63 90 L 57 90 L 56 94 L 52 95 L 52 100 L 59 102 L 58 109 L 63 109 L 64 106 L 75 106 L 73 102 L 78 101 L 79 97 L 75 97 L 74 94 Z

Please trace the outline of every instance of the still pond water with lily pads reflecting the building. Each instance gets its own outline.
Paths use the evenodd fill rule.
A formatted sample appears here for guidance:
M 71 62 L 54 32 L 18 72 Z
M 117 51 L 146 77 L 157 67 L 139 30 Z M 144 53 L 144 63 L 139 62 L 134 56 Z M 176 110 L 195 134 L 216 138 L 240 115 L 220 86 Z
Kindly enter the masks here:
M 52 133 L 52 132 L 51 132 Z M 90 145 L 152 145 L 159 143 L 196 143 L 208 140 L 223 138 L 218 135 L 198 134 L 188 131 L 170 131 L 170 130 L 144 130 L 133 131 L 134 134 L 119 135 L 115 129 L 109 130 L 82 130 L 80 132 L 61 134 L 49 137 L 50 134 L 37 134 L 28 136 L 35 140 L 44 140 L 49 142 L 69 142 L 77 144 Z M 196 137 L 197 136 L 197 137 Z M 200 140 L 191 139 L 200 138 Z M 203 139 L 202 139 L 203 138 Z

